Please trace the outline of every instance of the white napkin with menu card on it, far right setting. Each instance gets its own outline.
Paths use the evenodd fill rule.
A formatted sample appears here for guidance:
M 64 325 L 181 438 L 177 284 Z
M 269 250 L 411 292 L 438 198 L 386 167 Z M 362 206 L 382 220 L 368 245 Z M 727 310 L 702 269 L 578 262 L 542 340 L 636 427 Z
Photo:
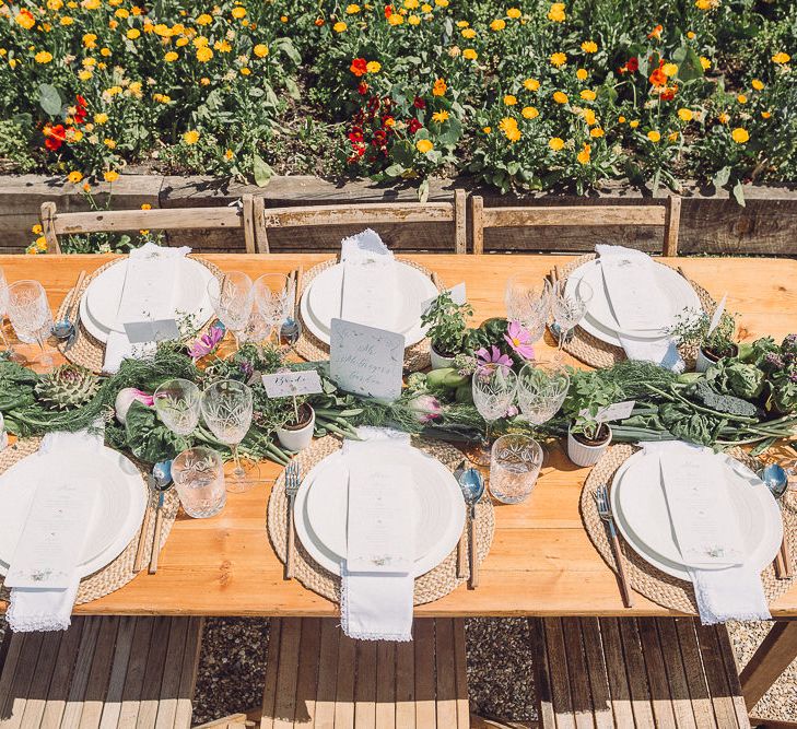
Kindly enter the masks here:
M 597 245 L 601 274 L 614 317 L 625 333 L 617 332 L 629 360 L 654 362 L 666 369 L 683 372 L 685 364 L 669 337 L 634 339 L 628 330 L 666 328 L 668 304 L 656 281 L 654 260 L 641 250 Z M 644 302 L 644 306 L 641 303 Z

